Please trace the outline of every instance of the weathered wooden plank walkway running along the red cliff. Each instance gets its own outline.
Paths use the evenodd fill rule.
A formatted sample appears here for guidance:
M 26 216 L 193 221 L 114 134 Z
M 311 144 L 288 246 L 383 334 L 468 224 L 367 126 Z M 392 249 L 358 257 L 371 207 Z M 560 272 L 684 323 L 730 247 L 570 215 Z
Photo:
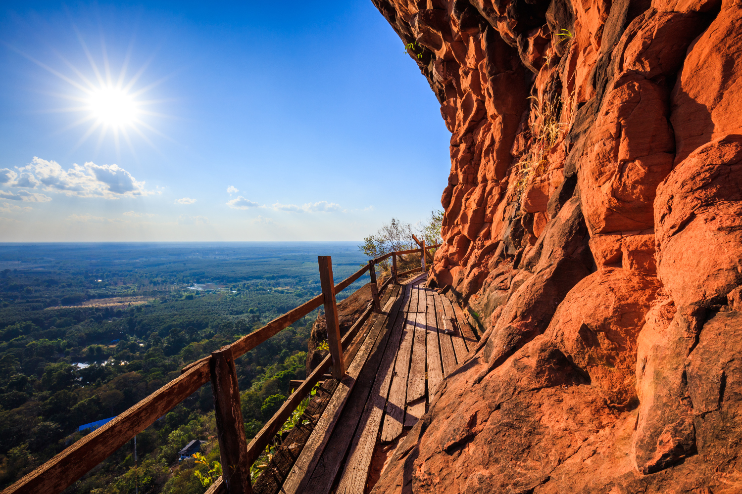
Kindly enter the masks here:
M 416 424 L 476 345 L 461 309 L 424 281 L 423 274 L 387 288 L 381 314 L 358 333 L 346 375 L 326 381 L 332 397 L 278 492 L 364 493 L 377 445 Z

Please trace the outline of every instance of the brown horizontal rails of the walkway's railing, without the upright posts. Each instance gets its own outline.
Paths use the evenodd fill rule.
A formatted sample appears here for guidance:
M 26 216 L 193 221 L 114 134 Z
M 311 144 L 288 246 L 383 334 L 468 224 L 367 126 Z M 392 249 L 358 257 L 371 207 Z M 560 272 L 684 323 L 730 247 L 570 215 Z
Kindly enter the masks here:
M 437 247 L 437 246 L 434 246 Z M 430 247 L 433 248 L 433 247 Z M 422 249 L 412 249 L 409 251 L 398 251 L 390 252 L 385 254 L 380 259 L 384 260 L 387 257 L 399 254 L 410 254 L 412 252 L 419 252 Z M 376 260 L 378 262 L 378 260 Z M 370 265 L 366 265 L 351 274 L 345 280 L 335 285 L 335 293 L 341 292 L 347 289 L 355 280 L 358 280 L 368 269 Z M 419 269 L 419 268 L 417 268 Z M 416 271 L 416 269 L 412 270 Z M 405 271 L 405 273 L 411 271 Z M 405 274 L 399 273 L 399 274 Z M 381 286 L 379 292 L 383 292 L 385 288 L 393 281 L 393 277 L 388 278 L 384 285 Z M 303 303 L 301 306 L 286 312 L 274 320 L 266 324 L 260 329 L 255 330 L 249 335 L 241 337 L 231 345 L 233 358 L 238 358 L 240 355 L 244 355 L 246 352 L 254 349 L 270 337 L 276 335 L 282 329 L 286 329 L 291 326 L 297 320 L 306 316 L 313 310 L 317 309 L 324 303 L 324 294 L 319 294 L 313 297 L 311 300 Z M 371 308 L 367 309 L 365 314 L 370 313 Z M 351 332 L 346 335 L 349 336 Z M 345 343 L 346 337 L 342 339 L 342 343 Z M 45 464 L 28 473 L 23 478 L 16 481 L 15 484 L 7 487 L 2 491 L 1 494 L 16 494 L 16 493 L 35 493 L 35 494 L 59 494 L 75 481 L 77 481 L 82 475 L 85 475 L 88 471 L 92 470 L 101 461 L 108 458 L 116 452 L 117 449 L 122 447 L 128 441 L 131 441 L 135 435 L 142 432 L 142 430 L 154 424 L 157 418 L 162 417 L 168 411 L 174 408 L 181 401 L 188 398 L 196 392 L 203 384 L 206 384 L 211 379 L 211 372 L 209 370 L 211 364 L 211 356 L 201 358 L 195 362 L 189 363 L 181 370 L 181 375 L 170 381 L 169 383 L 162 386 L 160 389 L 139 401 L 131 408 L 122 412 L 114 420 L 108 422 L 108 424 L 99 427 L 95 431 L 86 435 L 84 438 L 72 444 L 70 447 L 65 449 L 59 454 L 55 455 Z M 326 364 L 326 366 L 325 366 Z M 324 372 L 329 368 L 330 356 L 328 355 L 323 363 L 315 369 L 315 372 Z M 324 369 L 323 369 L 323 366 Z M 274 417 L 269 421 L 266 426 L 261 429 L 260 433 L 250 442 L 248 446 L 249 454 L 248 458 L 251 461 L 255 461 L 257 456 L 253 456 L 255 452 L 257 455 L 266 446 L 265 441 L 270 441 L 278 432 L 276 427 L 280 428 L 286 418 L 291 415 L 291 412 L 301 403 L 301 400 L 306 393 L 312 388 L 314 383 L 310 383 L 310 379 L 315 378 L 315 372 L 304 381 L 302 386 L 296 390 L 294 394 L 289 397 L 284 403 L 284 406 L 276 412 Z M 317 381 L 315 381 L 316 383 Z M 307 387 L 308 386 L 308 387 Z M 303 392 L 303 395 L 301 393 Z M 301 399 L 300 399 L 301 398 Z M 293 405 L 293 408 L 292 408 Z M 280 423 L 279 423 L 280 422 Z M 278 424 L 278 425 L 277 425 Z M 275 431 L 273 430 L 275 429 Z M 267 435 L 267 436 L 266 436 Z M 262 444 L 262 445 L 261 445 Z M 223 483 L 220 482 L 220 487 Z M 216 487 L 214 485 L 213 487 Z

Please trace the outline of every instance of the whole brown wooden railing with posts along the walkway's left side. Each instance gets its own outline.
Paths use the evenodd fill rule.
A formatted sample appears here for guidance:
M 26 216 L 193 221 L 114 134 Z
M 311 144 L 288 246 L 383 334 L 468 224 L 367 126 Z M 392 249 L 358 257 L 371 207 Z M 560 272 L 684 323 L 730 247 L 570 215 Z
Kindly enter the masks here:
M 417 241 L 417 239 L 415 239 Z M 214 395 L 214 412 L 217 423 L 223 476 L 207 491 L 216 493 L 226 487 L 229 494 L 252 493 L 250 484 L 250 466 L 260 453 L 272 441 L 289 415 L 301 404 L 303 398 L 312 390 L 322 375 L 332 366 L 332 376 L 341 379 L 345 374 L 343 349 L 353 340 L 371 312 L 380 312 L 379 292 L 390 283 L 397 283 L 397 277 L 403 274 L 425 269 L 425 257 L 421 256 L 421 266 L 403 273 L 396 272 L 397 257 L 413 252 L 428 251 L 440 244 L 408 251 L 390 252 L 377 259 L 370 260 L 366 266 L 355 271 L 337 285 L 332 283 L 332 260 L 329 256 L 318 257 L 322 293 L 286 314 L 275 318 L 260 329 L 241 337 L 231 345 L 223 346 L 209 357 L 189 363 L 181 370 L 180 377 L 162 386 L 138 404 L 123 412 L 104 426 L 96 429 L 77 441 L 58 455 L 51 458 L 41 467 L 30 472 L 15 484 L 7 487 L 2 494 L 34 493 L 58 494 L 77 481 L 82 475 L 108 458 L 135 435 L 149 427 L 157 418 L 165 415 L 174 406 L 188 398 L 203 384 L 211 381 Z M 392 276 L 378 289 L 376 286 L 375 265 L 387 258 L 393 258 Z M 344 337 L 340 335 L 338 307 L 335 295 L 347 289 L 355 280 L 369 271 L 371 277 L 372 303 L 366 312 L 356 321 Z M 300 320 L 319 306 L 324 305 L 327 323 L 327 341 L 330 355 L 312 371 L 301 386 L 278 409 L 278 412 L 260 429 L 255 438 L 246 444 L 242 412 L 240 411 L 240 392 L 237 387 L 237 374 L 234 359 L 263 343 Z

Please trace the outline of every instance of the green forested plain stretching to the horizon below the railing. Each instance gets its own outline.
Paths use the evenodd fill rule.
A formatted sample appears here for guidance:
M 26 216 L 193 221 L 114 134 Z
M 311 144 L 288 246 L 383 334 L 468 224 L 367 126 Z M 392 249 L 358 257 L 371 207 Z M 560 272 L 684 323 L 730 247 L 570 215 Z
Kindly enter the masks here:
M 321 292 L 317 255 L 335 282 L 366 257 L 350 243 L 0 245 L 0 488 L 180 375 L 185 364 Z M 367 283 L 363 277 L 338 296 Z M 250 439 L 306 378 L 317 313 L 236 360 Z M 129 441 L 67 493 L 203 493 L 178 461 L 193 439 L 218 459 L 211 386 Z

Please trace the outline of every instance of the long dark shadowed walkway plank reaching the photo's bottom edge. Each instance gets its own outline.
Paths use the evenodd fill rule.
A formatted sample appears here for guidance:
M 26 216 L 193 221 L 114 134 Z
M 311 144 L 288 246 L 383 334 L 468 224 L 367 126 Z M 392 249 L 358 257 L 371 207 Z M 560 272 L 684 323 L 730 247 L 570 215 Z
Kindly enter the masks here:
M 396 305 L 400 303 L 402 303 L 402 300 L 398 297 Z M 398 311 L 394 309 L 389 314 L 381 322 L 382 327 L 378 340 L 364 369 L 358 375 L 358 383 L 353 388 L 351 397 L 343 410 L 337 427 L 332 431 L 332 437 L 330 437 L 319 463 L 321 467 L 315 468 L 315 472 L 312 473 L 312 478 L 303 490 L 303 494 L 326 494 L 329 492 L 330 487 L 332 487 L 332 482 L 340 470 L 346 452 L 353 440 L 354 432 L 361 420 L 361 413 L 364 411 L 369 400 L 375 376 L 378 374 L 379 365 L 387 349 L 387 341 L 393 332 L 395 318 L 401 318 L 403 315 L 398 314 Z

